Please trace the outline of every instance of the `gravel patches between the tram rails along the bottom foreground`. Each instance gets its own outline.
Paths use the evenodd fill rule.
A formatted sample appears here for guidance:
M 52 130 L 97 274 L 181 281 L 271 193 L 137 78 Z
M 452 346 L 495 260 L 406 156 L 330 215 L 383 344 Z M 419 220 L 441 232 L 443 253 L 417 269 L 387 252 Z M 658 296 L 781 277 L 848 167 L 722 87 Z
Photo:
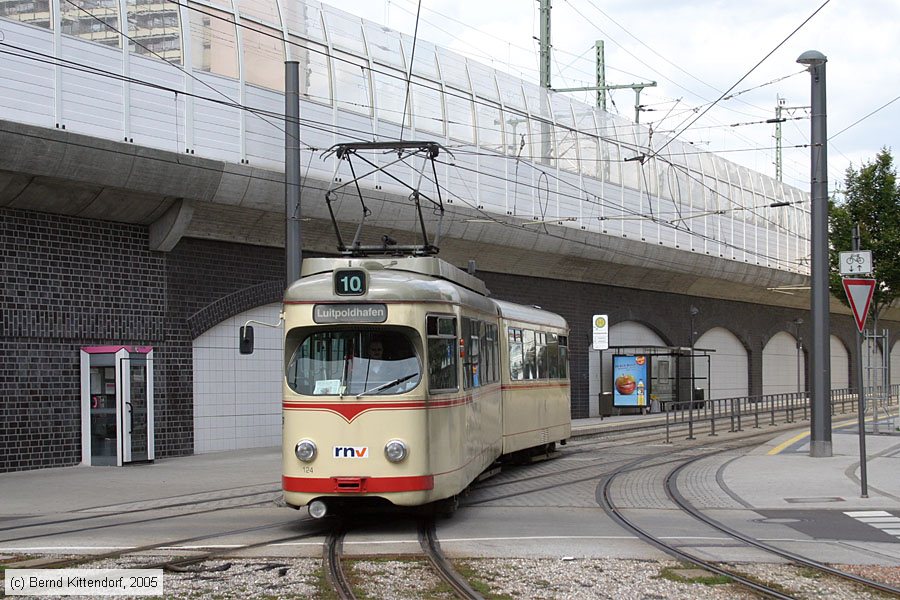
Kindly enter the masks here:
M 350 559 L 351 579 L 362 599 L 418 600 L 451 599 L 436 575 L 421 557 Z M 147 558 L 98 561 L 88 568 L 133 568 Z M 673 561 L 621 559 L 460 559 L 455 561 L 476 582 L 486 598 L 534 600 L 699 600 L 756 599 L 758 596 L 736 585 L 707 585 L 697 573 Z M 235 558 L 212 560 L 191 567 L 189 572 L 165 574 L 165 598 L 327 598 L 321 578 L 321 560 Z M 797 598 L 829 600 L 883 599 L 861 591 L 849 582 L 783 564 L 741 564 L 738 570 L 750 577 L 777 584 Z M 845 567 L 846 568 L 846 567 Z M 686 575 L 675 581 L 672 569 Z M 900 585 L 900 567 L 853 566 L 853 572 Z M 709 575 L 712 576 L 711 574 Z M 472 579 L 470 579 L 471 581 Z M 478 585 L 476 583 L 476 585 Z M 323 594 L 323 590 L 326 591 Z M 82 596 L 84 597 L 84 596 Z M 146 597 L 146 596 L 145 596 Z M 102 598 L 109 598 L 108 596 Z

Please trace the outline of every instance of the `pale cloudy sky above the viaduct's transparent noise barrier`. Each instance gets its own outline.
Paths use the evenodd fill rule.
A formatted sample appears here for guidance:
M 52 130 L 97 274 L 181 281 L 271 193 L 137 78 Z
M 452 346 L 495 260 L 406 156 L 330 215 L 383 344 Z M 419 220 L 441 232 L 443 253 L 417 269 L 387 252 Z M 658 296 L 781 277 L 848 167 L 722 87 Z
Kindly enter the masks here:
M 409 35 L 416 28 L 418 0 L 324 2 Z M 657 83 L 641 93 L 640 114 L 655 131 L 677 133 L 774 177 L 775 125 L 764 121 L 784 98 L 785 107 L 797 108 L 782 114 L 783 180 L 808 190 L 811 77 L 796 61 L 818 50 L 828 58 L 829 190 L 839 193 L 847 168 L 871 162 L 881 148 L 900 152 L 897 0 L 552 0 L 552 6 L 552 86 L 594 85 L 594 44 L 603 40 L 607 84 Z M 537 82 L 539 28 L 537 0 L 422 0 L 418 36 Z M 634 119 L 634 92 L 617 90 L 610 98 L 610 112 Z

